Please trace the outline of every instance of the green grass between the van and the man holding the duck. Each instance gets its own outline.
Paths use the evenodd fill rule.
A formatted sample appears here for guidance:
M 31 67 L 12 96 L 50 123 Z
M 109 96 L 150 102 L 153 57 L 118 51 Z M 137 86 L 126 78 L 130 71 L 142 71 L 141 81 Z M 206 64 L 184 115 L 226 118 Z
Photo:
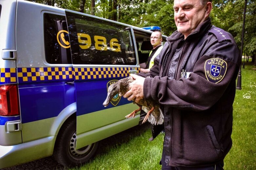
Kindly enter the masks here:
M 159 161 L 162 154 L 164 135 L 160 134 L 154 141 L 151 137 L 150 125 L 146 123 L 111 136 L 101 142 L 101 151 L 81 170 L 148 170 L 161 169 Z

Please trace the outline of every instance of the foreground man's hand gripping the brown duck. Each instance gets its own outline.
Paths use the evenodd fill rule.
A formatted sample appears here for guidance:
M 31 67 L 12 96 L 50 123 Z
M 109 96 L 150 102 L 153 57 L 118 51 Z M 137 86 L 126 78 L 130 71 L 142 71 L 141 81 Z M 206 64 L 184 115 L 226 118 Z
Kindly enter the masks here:
M 143 84 L 144 77 L 130 74 L 134 81 L 130 84 L 130 90 L 126 92 L 123 97 L 127 98 L 129 101 L 135 98 L 135 102 L 138 103 L 141 99 L 144 98 L 143 95 Z

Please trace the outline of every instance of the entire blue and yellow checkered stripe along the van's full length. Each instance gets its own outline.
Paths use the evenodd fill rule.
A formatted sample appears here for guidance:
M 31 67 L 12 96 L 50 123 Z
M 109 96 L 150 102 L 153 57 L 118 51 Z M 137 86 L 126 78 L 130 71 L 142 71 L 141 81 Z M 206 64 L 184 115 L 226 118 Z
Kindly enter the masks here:
M 0 84 L 37 83 L 65 80 L 92 80 L 105 78 L 122 78 L 129 76 L 131 67 L 111 68 L 73 68 L 73 67 L 34 67 L 34 68 L 0 68 Z M 137 72 L 140 68 L 135 68 Z

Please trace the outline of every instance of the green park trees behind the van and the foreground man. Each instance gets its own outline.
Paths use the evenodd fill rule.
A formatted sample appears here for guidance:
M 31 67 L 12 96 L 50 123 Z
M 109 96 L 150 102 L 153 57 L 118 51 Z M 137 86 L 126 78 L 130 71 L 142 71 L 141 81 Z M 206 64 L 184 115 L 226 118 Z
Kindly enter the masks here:
M 29 0 L 71 9 L 138 27 L 160 26 L 164 35 L 176 30 L 173 0 Z M 243 53 L 256 55 L 256 1 L 246 0 Z M 230 32 L 241 47 L 245 0 L 212 0 L 212 24 Z

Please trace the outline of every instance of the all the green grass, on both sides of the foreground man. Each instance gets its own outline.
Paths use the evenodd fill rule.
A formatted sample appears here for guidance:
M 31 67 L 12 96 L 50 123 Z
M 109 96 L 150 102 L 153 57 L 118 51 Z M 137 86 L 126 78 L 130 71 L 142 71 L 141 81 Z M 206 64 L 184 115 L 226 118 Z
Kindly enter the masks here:
M 236 90 L 233 111 L 233 146 L 224 160 L 225 170 L 256 169 L 256 69 L 242 68 L 242 90 Z M 163 134 L 154 141 L 150 125 L 136 126 L 102 141 L 96 158 L 73 170 L 155 170 L 161 169 Z

